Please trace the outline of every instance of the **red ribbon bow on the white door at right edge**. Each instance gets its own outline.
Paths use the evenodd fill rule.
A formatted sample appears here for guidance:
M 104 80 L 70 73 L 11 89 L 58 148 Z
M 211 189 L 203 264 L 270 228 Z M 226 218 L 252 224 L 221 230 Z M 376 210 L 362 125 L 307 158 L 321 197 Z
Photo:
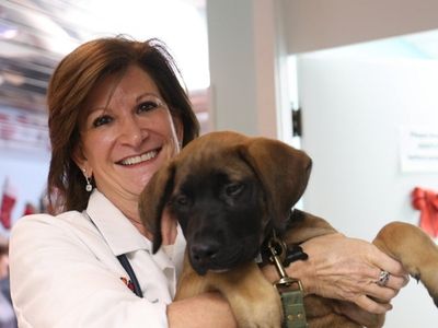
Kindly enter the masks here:
M 416 187 L 412 191 L 412 206 L 420 211 L 419 227 L 438 237 L 438 194 Z

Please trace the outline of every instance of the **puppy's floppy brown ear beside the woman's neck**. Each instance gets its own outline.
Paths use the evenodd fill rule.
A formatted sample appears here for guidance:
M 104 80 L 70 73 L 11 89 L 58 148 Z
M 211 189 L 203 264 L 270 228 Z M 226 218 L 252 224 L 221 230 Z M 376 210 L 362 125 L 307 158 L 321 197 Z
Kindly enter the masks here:
M 140 219 L 146 229 L 153 234 L 153 254 L 158 251 L 163 241 L 161 234 L 161 218 L 169 198 L 172 195 L 174 176 L 175 166 L 173 162 L 169 162 L 155 172 L 140 194 Z

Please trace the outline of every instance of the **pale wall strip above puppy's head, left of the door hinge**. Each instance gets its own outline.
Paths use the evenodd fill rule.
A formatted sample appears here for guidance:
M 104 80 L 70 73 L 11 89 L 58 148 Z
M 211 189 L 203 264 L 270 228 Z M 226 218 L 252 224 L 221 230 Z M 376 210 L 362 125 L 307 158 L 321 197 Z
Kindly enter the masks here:
M 288 106 L 280 10 L 276 0 L 207 1 L 212 129 L 279 136 Z

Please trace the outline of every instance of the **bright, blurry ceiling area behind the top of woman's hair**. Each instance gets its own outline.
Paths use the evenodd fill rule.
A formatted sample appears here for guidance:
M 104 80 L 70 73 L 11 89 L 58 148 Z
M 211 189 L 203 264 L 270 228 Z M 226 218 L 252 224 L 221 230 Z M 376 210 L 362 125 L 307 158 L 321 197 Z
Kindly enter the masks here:
M 110 5 L 110 3 L 113 3 L 113 5 Z M 115 5 L 114 3 L 118 4 Z M 139 3 L 141 4 L 141 10 L 138 8 Z M 159 3 L 161 4 L 159 5 Z M 175 44 L 172 40 L 176 39 L 174 24 L 177 25 L 181 22 L 172 20 L 174 24 L 171 24 L 171 26 L 169 22 L 163 20 L 162 15 L 164 9 L 166 10 L 170 4 L 181 7 L 177 10 L 182 16 L 180 21 L 184 19 L 184 13 L 194 15 L 194 12 L 198 15 L 197 21 L 203 19 L 204 0 L 161 0 L 160 2 L 125 0 L 124 8 L 130 9 L 131 13 L 129 14 L 129 11 L 126 11 L 124 16 L 129 19 L 125 21 L 120 20 L 122 8 L 118 1 L 0 1 L 0 106 L 20 108 L 32 113 L 44 113 L 48 79 L 55 66 L 62 56 L 71 51 L 80 43 L 92 37 L 119 33 L 127 33 L 142 38 L 160 37 L 161 35 L 168 44 Z M 182 11 L 182 9 L 185 11 Z M 134 14 L 134 12 L 137 13 Z M 140 15 L 138 12 L 141 12 Z M 166 15 L 169 16 L 169 14 Z M 192 19 L 191 21 L 196 20 Z M 132 22 L 137 23 L 137 25 L 132 24 Z M 147 22 L 150 24 L 148 25 Z M 160 24 L 160 22 L 165 24 Z M 203 22 L 197 24 L 203 24 Z M 164 32 L 163 26 L 172 27 L 172 33 Z M 161 28 L 160 33 L 157 32 L 157 28 Z M 138 32 L 142 30 L 148 31 L 149 34 L 146 35 L 146 33 Z M 181 28 L 180 32 L 186 33 L 187 31 L 185 30 L 186 27 Z M 199 31 L 199 28 L 196 30 Z M 173 36 L 173 38 L 169 36 Z M 189 87 L 195 90 L 205 89 L 208 85 L 206 31 L 198 39 L 204 40 L 204 44 L 200 43 L 204 45 L 200 51 L 204 58 L 200 60 L 195 58 L 195 60 L 198 67 L 199 62 L 204 65 L 199 68 L 204 70 L 204 74 L 200 73 L 201 77 L 197 79 L 204 81 Z M 173 48 L 172 45 L 170 47 L 171 49 Z M 177 45 L 174 48 L 175 52 L 180 51 L 176 54 L 178 56 L 175 56 L 176 59 L 181 57 L 182 63 L 186 65 L 184 60 L 189 58 L 189 55 L 184 55 L 180 50 L 182 46 Z M 194 70 L 187 69 L 187 71 L 193 72 Z M 199 86 L 203 83 L 205 86 Z M 188 84 L 187 86 L 189 86 Z

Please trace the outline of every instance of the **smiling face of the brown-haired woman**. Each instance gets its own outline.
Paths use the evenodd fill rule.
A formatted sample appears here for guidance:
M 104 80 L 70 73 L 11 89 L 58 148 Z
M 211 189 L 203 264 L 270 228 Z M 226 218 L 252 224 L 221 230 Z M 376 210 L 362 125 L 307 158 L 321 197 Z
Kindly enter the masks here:
M 174 121 L 148 73 L 130 66 L 92 91 L 76 162 L 112 200 L 137 199 L 163 163 L 178 152 Z M 176 127 L 175 127 L 176 125 Z

